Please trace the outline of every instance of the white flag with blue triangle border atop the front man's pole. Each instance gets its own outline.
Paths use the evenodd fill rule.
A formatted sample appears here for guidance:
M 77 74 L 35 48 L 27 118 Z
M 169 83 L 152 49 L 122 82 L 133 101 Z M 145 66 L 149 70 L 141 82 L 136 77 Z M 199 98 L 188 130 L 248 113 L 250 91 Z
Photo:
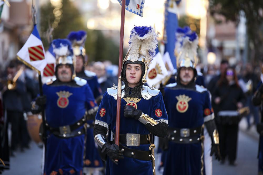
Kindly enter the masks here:
M 118 0 L 120 5 L 122 5 L 122 0 Z M 131 13 L 135 13 L 140 17 L 143 17 L 143 6 L 145 0 L 126 0 L 125 9 Z

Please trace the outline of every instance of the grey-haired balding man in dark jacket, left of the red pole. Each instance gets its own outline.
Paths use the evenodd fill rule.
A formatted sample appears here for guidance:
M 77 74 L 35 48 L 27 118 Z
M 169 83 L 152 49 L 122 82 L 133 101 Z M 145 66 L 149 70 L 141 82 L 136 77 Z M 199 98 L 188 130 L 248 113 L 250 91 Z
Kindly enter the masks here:
M 98 82 L 100 84 L 100 88 L 102 90 L 102 93 L 107 91 L 108 87 L 111 87 L 113 84 L 113 81 L 107 77 L 106 75 L 106 69 L 102 62 L 98 61 L 95 62 L 94 65 L 94 72 L 96 73 L 98 77 Z

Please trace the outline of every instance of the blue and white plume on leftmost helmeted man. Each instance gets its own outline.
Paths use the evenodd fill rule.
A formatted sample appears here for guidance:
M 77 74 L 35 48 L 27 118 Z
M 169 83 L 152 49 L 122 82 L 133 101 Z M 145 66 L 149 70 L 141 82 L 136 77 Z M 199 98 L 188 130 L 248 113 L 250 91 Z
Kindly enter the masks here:
M 71 43 L 67 39 L 55 39 L 52 41 L 53 52 L 56 57 L 72 55 Z

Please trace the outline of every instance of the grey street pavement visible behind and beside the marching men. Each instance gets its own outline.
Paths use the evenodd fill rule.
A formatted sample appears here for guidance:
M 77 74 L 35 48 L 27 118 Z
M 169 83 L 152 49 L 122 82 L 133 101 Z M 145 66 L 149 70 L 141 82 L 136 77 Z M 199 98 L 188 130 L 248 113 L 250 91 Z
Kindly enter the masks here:
M 255 126 L 246 131 L 245 120 L 240 122 L 237 148 L 237 166 L 224 165 L 213 160 L 213 175 L 254 175 L 257 174 L 258 135 Z M 158 155 L 156 155 L 158 159 Z M 4 171 L 3 175 L 41 175 L 42 149 L 31 143 L 31 149 L 17 152 L 16 157 L 11 157 L 11 169 Z M 156 160 L 156 168 L 159 165 Z M 158 171 L 156 175 L 161 175 Z

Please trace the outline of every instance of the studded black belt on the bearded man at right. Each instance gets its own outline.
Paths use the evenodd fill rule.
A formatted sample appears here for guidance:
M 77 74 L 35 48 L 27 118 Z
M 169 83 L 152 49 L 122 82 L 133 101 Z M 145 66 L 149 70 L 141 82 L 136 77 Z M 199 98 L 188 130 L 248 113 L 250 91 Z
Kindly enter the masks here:
M 197 128 L 169 128 L 169 140 L 180 144 L 197 143 L 204 139 L 203 126 Z

